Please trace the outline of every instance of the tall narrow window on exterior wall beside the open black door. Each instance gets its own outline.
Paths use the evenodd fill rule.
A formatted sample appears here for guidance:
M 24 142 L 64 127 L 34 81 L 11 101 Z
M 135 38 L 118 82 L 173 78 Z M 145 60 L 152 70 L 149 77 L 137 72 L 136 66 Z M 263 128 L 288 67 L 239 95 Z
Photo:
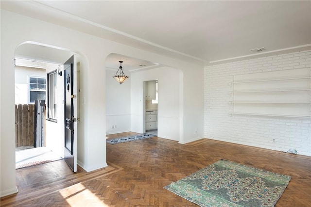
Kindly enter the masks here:
M 48 119 L 57 120 L 57 72 L 48 74 Z

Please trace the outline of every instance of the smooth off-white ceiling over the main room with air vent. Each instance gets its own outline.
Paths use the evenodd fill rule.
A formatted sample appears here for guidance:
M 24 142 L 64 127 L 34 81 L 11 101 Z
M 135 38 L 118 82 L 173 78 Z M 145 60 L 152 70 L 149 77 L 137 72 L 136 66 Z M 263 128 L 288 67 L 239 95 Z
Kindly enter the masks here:
M 311 46 L 310 0 L 1 0 L 1 8 L 203 65 L 258 55 L 254 48 Z M 107 66 L 118 67 L 120 58 L 131 60 L 114 54 Z M 133 70 L 157 65 L 134 62 Z

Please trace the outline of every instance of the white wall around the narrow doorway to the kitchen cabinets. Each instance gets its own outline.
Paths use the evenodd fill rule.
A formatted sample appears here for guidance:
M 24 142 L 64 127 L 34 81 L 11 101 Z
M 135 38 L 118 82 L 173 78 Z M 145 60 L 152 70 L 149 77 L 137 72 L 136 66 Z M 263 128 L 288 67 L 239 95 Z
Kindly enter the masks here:
M 171 67 L 160 67 L 131 74 L 131 131 L 144 132 L 143 81 L 158 80 L 157 136 L 179 141 L 179 73 Z

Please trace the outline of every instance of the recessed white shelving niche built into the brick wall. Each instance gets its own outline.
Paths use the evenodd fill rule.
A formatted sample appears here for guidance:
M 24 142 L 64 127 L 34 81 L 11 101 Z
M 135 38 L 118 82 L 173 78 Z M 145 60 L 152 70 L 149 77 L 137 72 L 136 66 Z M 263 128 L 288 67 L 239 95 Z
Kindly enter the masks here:
M 233 76 L 233 115 L 311 118 L 310 68 Z

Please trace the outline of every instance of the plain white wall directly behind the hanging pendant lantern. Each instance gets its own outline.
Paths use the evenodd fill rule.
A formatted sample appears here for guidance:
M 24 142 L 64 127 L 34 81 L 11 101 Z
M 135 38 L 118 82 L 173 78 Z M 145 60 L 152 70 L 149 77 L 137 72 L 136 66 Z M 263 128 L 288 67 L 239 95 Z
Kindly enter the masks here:
M 116 70 L 106 69 L 106 134 L 131 130 L 131 75 L 122 84 L 112 76 Z

